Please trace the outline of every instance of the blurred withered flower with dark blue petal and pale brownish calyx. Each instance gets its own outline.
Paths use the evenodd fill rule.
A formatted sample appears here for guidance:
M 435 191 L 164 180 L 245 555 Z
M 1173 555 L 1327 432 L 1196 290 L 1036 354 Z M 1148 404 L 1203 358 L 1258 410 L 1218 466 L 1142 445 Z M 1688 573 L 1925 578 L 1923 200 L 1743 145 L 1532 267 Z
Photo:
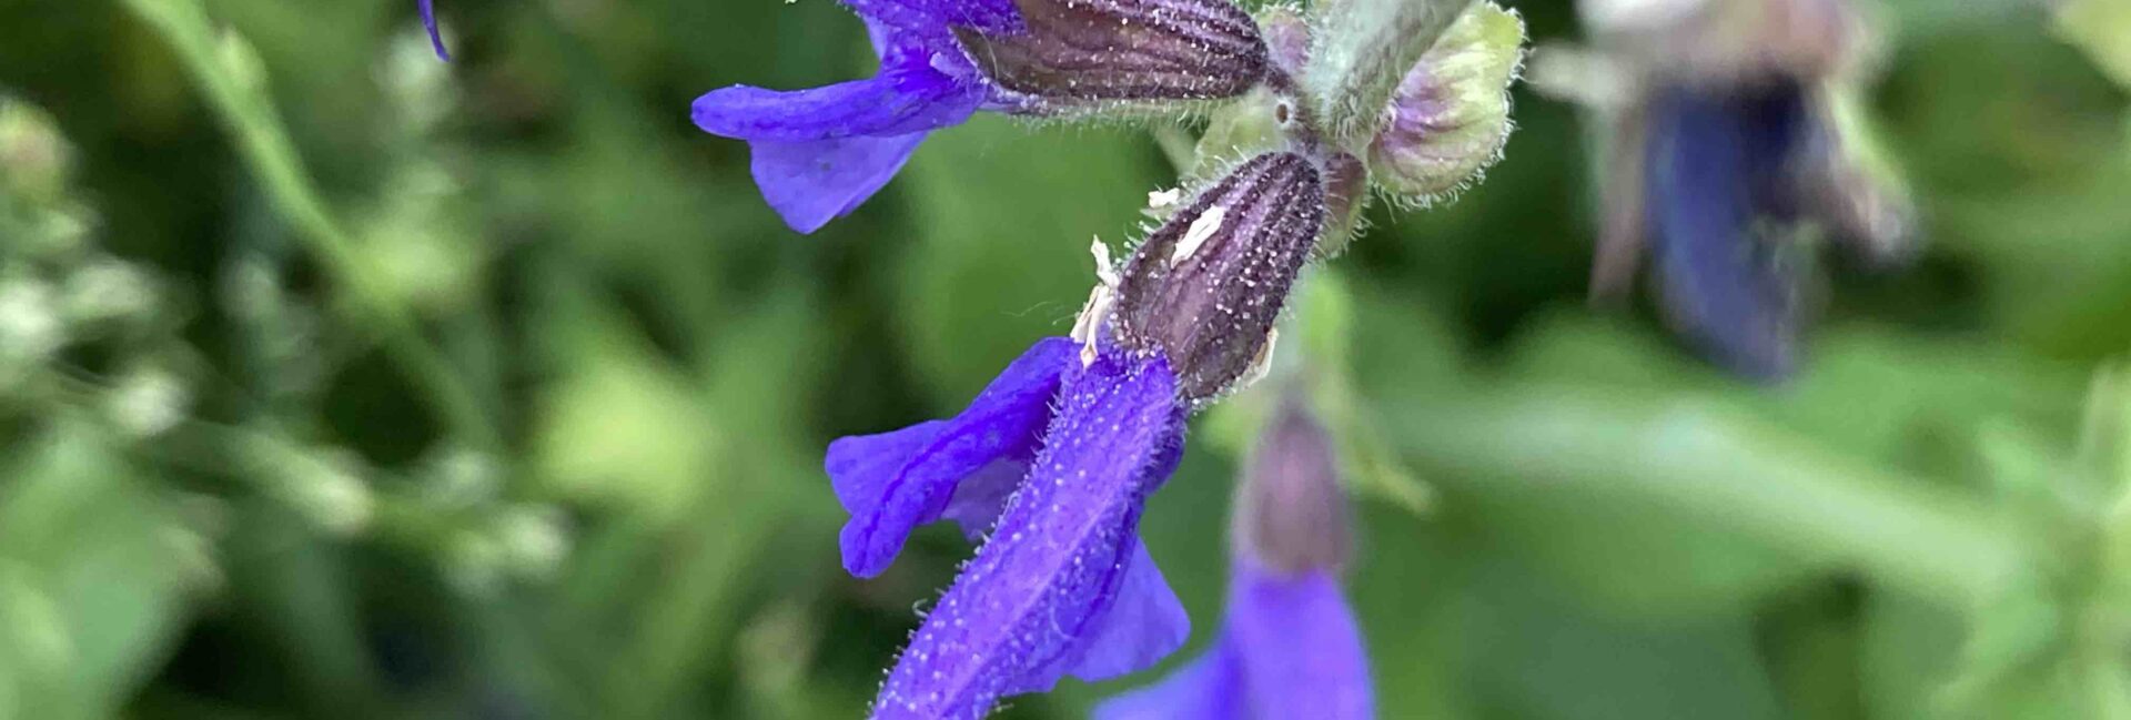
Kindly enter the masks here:
M 1609 126 L 1594 296 L 1649 256 L 1673 328 L 1760 379 L 1796 366 L 1801 279 L 1831 239 L 1905 258 L 1909 200 L 1854 111 L 1871 32 L 1848 0 L 1585 0 L 1600 51 L 1553 51 L 1541 87 Z

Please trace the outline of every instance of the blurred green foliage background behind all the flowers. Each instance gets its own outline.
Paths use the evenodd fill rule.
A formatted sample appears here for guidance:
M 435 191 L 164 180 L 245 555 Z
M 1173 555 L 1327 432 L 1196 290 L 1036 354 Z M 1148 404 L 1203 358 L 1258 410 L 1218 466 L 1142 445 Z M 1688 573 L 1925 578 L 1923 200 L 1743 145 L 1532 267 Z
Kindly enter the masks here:
M 1869 9 L 1929 245 L 1831 262 L 1790 383 L 1585 305 L 1585 126 L 1522 87 L 1306 281 L 1385 718 L 2131 711 L 2131 13 Z M 867 75 L 848 11 L 439 11 L 452 64 L 411 0 L 0 0 L 0 718 L 859 716 L 970 547 L 844 575 L 823 447 L 1063 334 L 1174 181 L 987 115 L 799 236 L 688 102 Z M 1251 398 L 1144 520 L 1193 650 Z

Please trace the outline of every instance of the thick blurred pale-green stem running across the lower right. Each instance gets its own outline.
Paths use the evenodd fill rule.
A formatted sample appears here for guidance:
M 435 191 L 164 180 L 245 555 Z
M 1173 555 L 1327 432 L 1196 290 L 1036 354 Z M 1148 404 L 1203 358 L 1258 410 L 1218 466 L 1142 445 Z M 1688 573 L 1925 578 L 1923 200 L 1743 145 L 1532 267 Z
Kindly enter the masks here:
M 2037 552 L 1975 501 L 1688 400 L 1534 388 L 1379 407 L 1409 409 L 1392 415 L 1398 445 L 1460 494 L 1575 492 L 1649 505 L 1956 611 L 2018 584 Z

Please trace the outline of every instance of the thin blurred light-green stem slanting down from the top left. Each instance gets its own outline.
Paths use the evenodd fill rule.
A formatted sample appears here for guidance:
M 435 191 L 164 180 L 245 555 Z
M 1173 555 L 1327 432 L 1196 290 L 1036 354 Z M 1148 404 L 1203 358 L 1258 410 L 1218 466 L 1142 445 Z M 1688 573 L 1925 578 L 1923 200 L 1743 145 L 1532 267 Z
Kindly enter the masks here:
M 454 373 L 443 354 L 422 339 L 413 313 L 401 307 L 379 281 L 377 268 L 356 251 L 354 241 L 332 219 L 311 183 L 288 130 L 258 77 L 258 58 L 234 36 L 217 43 L 215 28 L 198 0 L 126 0 L 126 6 L 162 34 L 177 51 L 209 104 L 237 136 L 243 160 L 266 187 L 266 198 L 296 236 L 318 256 L 354 300 L 358 322 L 371 322 L 379 341 L 433 403 L 454 435 L 482 449 L 501 447 L 499 430 L 479 398 Z

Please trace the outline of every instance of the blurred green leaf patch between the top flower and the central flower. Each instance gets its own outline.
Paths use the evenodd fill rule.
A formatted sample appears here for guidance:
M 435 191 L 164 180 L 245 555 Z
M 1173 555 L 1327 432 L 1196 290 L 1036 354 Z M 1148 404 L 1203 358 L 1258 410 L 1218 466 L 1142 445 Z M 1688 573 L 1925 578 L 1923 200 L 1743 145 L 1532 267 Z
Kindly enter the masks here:
M 1074 162 L 1046 162 L 1057 147 Z M 1087 239 L 1140 239 L 1138 209 L 1168 183 L 1157 158 L 1138 132 L 997 117 L 925 141 L 889 187 L 910 198 L 910 228 L 869 241 L 906 247 L 889 317 L 929 396 L 959 407 L 1031 343 L 1072 328 L 1095 288 Z

